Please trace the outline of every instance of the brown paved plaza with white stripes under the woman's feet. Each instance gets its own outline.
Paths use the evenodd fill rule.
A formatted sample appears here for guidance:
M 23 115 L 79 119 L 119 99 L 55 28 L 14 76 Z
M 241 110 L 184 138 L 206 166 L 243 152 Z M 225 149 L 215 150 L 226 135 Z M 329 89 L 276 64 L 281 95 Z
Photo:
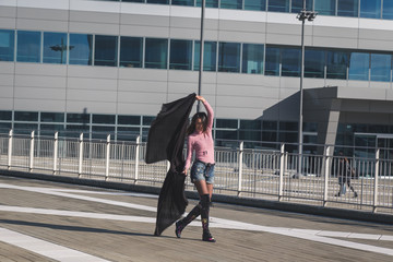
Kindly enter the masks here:
M 0 261 L 389 261 L 393 225 L 215 203 L 153 236 L 157 195 L 0 176 Z M 195 204 L 190 200 L 189 212 Z

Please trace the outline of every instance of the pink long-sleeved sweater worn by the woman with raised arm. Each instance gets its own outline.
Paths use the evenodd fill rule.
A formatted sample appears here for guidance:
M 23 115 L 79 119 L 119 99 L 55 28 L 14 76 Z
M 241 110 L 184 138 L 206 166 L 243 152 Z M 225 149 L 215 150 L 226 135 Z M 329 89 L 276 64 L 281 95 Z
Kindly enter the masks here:
M 206 100 L 203 102 L 207 111 L 207 128 L 205 132 L 193 132 L 188 136 L 187 159 L 184 169 L 191 166 L 192 152 L 195 151 L 195 160 L 214 164 L 214 142 L 212 136 L 213 108 Z

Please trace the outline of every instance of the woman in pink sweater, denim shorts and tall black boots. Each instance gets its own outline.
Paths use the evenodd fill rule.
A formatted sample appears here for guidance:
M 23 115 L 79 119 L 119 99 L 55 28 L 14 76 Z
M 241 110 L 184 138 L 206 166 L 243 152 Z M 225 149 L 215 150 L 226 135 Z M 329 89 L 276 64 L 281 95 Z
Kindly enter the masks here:
M 205 98 L 202 96 L 196 96 L 195 98 L 203 103 L 207 115 L 205 112 L 196 112 L 192 117 L 191 123 L 187 130 L 188 152 L 183 174 L 187 176 L 188 169 L 191 166 L 192 152 L 195 152 L 195 160 L 191 167 L 191 181 L 195 184 L 201 201 L 184 218 L 176 223 L 175 233 L 176 236 L 180 238 L 182 229 L 201 215 L 203 228 L 202 240 L 215 242 L 215 239 L 209 230 L 209 211 L 213 193 L 215 164 L 214 142 L 212 136 L 214 114 Z

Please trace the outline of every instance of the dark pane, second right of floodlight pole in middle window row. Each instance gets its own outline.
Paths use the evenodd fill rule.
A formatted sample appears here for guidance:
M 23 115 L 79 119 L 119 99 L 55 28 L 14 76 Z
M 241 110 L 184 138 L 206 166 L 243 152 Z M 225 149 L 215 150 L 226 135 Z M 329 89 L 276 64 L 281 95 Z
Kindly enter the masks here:
M 347 79 L 348 53 L 344 51 L 327 51 L 326 78 Z

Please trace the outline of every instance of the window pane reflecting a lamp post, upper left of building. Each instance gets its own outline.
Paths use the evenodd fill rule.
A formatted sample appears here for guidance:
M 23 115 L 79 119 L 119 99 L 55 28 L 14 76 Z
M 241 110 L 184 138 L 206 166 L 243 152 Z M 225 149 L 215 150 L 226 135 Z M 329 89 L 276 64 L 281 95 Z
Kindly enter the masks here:
M 67 63 L 67 34 L 44 32 L 45 63 Z

